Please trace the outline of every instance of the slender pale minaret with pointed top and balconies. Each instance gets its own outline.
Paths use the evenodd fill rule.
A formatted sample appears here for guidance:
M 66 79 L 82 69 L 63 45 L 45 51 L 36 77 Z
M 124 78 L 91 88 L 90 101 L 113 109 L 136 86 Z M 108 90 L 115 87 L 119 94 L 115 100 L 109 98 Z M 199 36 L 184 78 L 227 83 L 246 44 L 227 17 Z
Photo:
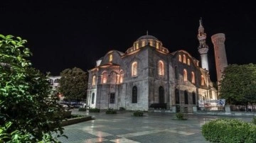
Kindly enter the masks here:
M 199 40 L 198 52 L 201 55 L 201 67 L 203 69 L 209 70 L 208 57 L 207 57 L 208 45 L 206 45 L 206 33 L 204 33 L 202 18 L 199 20 L 198 40 Z

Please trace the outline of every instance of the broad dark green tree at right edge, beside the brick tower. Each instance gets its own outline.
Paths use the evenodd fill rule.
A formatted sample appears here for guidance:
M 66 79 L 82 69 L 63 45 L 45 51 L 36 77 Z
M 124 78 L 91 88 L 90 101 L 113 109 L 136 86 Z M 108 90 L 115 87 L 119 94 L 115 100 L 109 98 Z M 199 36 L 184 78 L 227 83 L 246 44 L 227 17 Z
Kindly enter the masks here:
M 230 64 L 225 67 L 220 81 L 220 98 L 236 105 L 256 103 L 256 65 Z

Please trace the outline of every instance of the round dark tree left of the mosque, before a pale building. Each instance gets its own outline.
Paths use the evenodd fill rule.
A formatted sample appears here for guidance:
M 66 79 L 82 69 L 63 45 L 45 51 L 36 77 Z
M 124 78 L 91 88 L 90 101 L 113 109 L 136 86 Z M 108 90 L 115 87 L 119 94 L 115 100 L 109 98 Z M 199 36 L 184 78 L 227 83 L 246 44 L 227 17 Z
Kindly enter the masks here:
M 87 92 L 87 73 L 82 69 L 74 67 L 60 72 L 60 93 L 65 98 L 86 98 Z

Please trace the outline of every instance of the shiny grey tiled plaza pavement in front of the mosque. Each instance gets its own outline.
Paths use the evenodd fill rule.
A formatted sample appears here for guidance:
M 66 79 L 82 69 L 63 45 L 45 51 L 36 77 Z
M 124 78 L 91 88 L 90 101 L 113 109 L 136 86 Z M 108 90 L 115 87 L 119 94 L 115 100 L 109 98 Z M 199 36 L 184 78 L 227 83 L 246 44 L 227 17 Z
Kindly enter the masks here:
M 161 142 L 207 142 L 201 134 L 201 126 L 221 116 L 186 115 L 188 120 L 173 120 L 174 113 L 144 113 L 143 117 L 134 117 L 132 112 L 121 112 L 117 115 L 105 113 L 86 113 L 74 109 L 73 114 L 90 115 L 95 120 L 65 126 L 60 142 L 120 142 L 120 143 L 161 143 Z M 238 117 L 250 122 L 252 117 Z

